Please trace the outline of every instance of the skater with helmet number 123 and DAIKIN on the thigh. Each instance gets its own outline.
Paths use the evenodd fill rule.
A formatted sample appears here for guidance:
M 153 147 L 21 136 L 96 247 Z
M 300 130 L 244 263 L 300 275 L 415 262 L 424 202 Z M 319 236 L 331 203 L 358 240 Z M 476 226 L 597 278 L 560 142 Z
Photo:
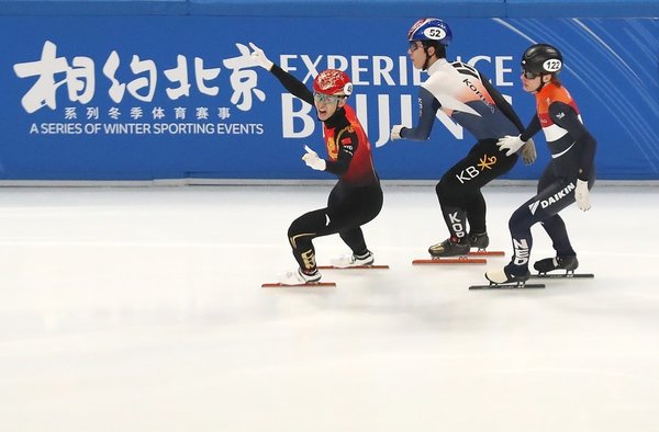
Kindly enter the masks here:
M 537 113 L 521 135 L 500 139 L 499 147 L 513 155 L 524 140 L 543 129 L 551 160 L 540 175 L 537 194 L 509 221 L 514 255 L 505 268 L 487 272 L 485 277 L 493 283 L 524 282 L 530 276 L 530 227 L 537 223 L 551 238 L 556 257 L 540 260 L 534 268 L 546 273 L 573 271 L 579 265 L 558 213 L 574 202 L 584 212 L 591 207 L 589 190 L 595 182 L 596 141 L 583 125 L 577 103 L 558 80 L 561 69 L 562 56 L 551 45 L 533 45 L 522 57 L 522 84 L 524 91 L 535 94 Z

